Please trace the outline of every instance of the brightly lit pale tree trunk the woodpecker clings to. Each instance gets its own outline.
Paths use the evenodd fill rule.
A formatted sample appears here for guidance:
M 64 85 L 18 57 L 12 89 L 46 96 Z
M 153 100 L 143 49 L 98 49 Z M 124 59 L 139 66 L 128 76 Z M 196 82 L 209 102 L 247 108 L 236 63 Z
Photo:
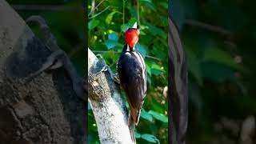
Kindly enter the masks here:
M 133 143 L 127 125 L 128 114 L 118 86 L 103 71 L 105 62 L 88 49 L 88 96 L 102 144 Z

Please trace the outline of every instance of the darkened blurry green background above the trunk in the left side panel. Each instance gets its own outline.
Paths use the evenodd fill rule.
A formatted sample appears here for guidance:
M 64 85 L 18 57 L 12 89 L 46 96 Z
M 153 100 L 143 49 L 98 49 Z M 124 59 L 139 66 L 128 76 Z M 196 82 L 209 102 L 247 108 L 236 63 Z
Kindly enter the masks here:
M 81 76 L 86 74 L 86 16 L 84 2 L 80 0 L 7 0 L 10 6 L 26 20 L 41 15 L 57 39 L 58 46 L 69 55 Z M 40 38 L 38 24 L 29 23 Z

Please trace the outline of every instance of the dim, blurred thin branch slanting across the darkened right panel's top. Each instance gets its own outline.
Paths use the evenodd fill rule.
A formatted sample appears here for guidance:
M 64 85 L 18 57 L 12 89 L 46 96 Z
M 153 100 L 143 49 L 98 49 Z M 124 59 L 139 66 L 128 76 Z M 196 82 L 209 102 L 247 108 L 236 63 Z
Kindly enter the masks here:
M 230 30 L 225 30 L 222 27 L 213 26 L 213 25 L 210 25 L 210 24 L 207 24 L 207 23 L 204 23 L 204 22 L 198 22 L 198 21 L 195 21 L 193 19 L 186 19 L 185 23 L 187 25 L 190 25 L 190 26 L 202 27 L 202 28 L 204 28 L 206 30 L 215 31 L 215 32 L 218 32 L 218 33 L 221 33 L 221 34 L 225 34 L 225 35 L 231 35 L 232 34 L 230 32 Z

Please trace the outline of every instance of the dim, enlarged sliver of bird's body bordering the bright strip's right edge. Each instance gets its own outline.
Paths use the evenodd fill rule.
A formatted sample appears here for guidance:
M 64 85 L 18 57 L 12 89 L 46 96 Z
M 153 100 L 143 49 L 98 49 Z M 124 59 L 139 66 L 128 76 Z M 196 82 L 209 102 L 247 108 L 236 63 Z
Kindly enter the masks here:
M 188 123 L 188 78 L 186 68 L 186 54 L 182 47 L 178 27 L 171 14 L 171 0 L 168 2 L 169 13 L 169 105 L 168 105 L 168 133 L 169 143 L 185 143 Z

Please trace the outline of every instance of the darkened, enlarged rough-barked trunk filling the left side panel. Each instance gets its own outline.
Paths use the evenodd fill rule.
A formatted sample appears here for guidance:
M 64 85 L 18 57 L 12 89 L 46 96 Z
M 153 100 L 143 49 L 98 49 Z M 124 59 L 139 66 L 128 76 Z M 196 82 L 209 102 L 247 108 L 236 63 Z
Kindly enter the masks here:
M 4 0 L 0 1 L 0 143 L 81 143 L 86 105 L 66 70 L 39 70 L 50 51 Z

